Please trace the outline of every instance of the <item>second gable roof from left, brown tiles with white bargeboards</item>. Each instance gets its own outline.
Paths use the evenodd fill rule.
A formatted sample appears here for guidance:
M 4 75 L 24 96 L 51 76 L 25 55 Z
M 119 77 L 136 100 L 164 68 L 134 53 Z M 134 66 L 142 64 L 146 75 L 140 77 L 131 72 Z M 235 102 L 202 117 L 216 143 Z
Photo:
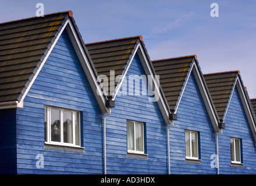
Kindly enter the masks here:
M 105 92 L 108 96 L 110 96 L 109 99 L 115 100 L 120 85 L 122 84 L 127 70 L 129 69 L 129 66 L 136 53 L 138 53 L 145 74 L 153 77 L 156 75 L 141 35 L 119 38 L 115 40 L 93 42 L 86 44 L 86 47 L 91 59 L 93 60 L 97 73 L 99 75 L 105 75 L 108 77 L 108 80 L 110 80 L 109 83 L 104 84 L 103 82 L 105 90 L 109 90 L 108 92 Z M 112 70 L 115 70 L 115 76 L 112 76 Z M 117 76 L 121 77 L 119 81 L 115 81 Z M 157 80 L 153 79 L 153 84 L 156 85 Z M 159 90 L 157 90 L 157 94 L 159 96 L 157 102 L 165 119 L 165 123 L 170 124 L 169 106 L 161 87 L 159 87 Z

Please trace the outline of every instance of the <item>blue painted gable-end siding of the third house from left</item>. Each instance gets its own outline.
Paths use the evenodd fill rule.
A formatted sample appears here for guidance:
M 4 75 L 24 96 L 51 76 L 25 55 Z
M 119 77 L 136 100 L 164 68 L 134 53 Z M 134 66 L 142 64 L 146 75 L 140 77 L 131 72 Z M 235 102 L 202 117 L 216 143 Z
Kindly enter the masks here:
M 177 109 L 177 120 L 170 128 L 171 174 L 216 174 L 211 155 L 216 154 L 215 132 L 205 108 L 194 74 L 191 73 Z M 184 130 L 197 131 L 201 164 L 187 163 Z

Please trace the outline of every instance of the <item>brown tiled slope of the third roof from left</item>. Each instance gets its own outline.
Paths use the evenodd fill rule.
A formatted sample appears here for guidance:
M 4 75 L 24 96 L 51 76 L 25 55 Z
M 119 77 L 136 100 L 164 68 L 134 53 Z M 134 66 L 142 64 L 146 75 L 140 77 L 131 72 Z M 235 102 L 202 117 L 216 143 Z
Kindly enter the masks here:
M 170 110 L 176 110 L 194 59 L 196 59 L 195 55 L 152 60 L 155 73 L 159 75 L 160 84 Z

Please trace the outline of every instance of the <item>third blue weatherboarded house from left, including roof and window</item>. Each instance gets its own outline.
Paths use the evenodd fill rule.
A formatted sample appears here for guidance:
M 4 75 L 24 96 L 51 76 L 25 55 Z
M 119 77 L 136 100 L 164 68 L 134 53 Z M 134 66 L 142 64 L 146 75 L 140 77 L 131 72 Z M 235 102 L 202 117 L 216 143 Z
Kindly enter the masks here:
M 219 119 L 197 56 L 152 61 L 170 110 L 177 115 L 169 129 L 170 174 L 216 174 Z

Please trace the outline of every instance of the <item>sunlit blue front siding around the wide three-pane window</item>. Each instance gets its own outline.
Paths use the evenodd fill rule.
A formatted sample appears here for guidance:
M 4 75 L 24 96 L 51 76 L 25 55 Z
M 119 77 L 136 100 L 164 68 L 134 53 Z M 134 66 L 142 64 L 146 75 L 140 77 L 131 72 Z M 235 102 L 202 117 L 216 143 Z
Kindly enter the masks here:
M 79 110 L 85 153 L 44 149 L 44 105 Z M 37 169 L 36 156 L 44 156 Z M 69 36 L 63 31 L 24 108 L 17 109 L 17 173 L 102 174 L 102 114 Z

